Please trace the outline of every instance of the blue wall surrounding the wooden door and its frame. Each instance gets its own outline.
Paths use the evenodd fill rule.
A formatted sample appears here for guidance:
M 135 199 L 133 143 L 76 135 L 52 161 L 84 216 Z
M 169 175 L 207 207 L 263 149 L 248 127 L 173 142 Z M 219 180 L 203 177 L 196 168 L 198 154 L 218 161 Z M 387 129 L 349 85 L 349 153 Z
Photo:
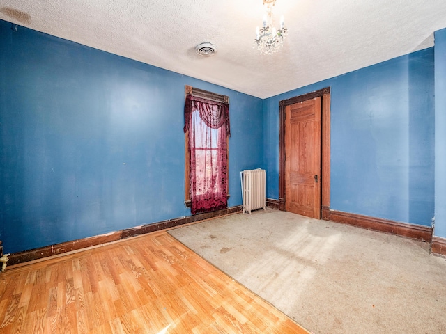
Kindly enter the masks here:
M 434 214 L 433 48 L 263 103 L 267 196 L 279 196 L 279 101 L 331 88 L 330 208 L 430 225 Z

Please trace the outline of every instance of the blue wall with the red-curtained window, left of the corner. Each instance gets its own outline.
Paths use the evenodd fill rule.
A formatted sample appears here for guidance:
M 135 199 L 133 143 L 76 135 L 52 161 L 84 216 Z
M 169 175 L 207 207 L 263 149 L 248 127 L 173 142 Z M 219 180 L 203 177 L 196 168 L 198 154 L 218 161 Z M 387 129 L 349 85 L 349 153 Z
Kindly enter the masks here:
M 8 253 L 190 215 L 185 85 L 229 95 L 229 206 L 263 164 L 262 100 L 0 21 L 0 239 Z M 249 152 L 247 154 L 246 152 Z

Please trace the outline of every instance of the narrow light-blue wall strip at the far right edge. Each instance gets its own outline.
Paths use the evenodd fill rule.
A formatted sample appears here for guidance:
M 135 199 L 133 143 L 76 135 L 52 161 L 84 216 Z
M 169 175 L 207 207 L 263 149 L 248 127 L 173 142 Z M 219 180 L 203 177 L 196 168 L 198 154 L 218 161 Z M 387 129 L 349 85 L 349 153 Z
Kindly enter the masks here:
M 446 238 L 446 29 L 435 33 L 435 234 Z

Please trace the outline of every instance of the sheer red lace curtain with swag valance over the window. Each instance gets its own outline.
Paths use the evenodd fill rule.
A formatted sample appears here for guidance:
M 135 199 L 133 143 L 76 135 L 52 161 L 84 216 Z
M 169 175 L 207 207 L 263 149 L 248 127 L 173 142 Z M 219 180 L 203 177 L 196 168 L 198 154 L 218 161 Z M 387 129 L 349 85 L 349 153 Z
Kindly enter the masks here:
M 189 132 L 191 212 L 227 207 L 226 138 L 229 104 L 186 95 L 184 132 Z

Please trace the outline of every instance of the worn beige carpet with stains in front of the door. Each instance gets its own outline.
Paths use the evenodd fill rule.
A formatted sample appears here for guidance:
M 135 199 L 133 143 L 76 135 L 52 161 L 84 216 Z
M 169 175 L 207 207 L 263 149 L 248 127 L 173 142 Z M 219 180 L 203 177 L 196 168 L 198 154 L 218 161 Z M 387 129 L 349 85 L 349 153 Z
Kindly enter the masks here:
M 273 209 L 169 233 L 313 333 L 446 333 L 427 243 Z

